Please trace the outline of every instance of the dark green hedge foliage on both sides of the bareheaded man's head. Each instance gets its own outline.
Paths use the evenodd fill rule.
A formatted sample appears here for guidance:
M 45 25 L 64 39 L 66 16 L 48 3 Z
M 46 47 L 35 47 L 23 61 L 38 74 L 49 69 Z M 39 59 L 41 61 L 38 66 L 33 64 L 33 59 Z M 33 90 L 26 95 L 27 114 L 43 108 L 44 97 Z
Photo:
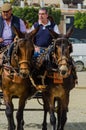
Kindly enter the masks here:
M 61 19 L 61 11 L 56 9 L 51 9 L 50 7 L 47 8 L 48 8 L 49 15 L 51 15 L 54 18 L 55 22 L 59 24 Z M 28 6 L 25 6 L 24 8 L 15 6 L 13 8 L 13 14 L 23 20 L 27 20 L 30 23 L 30 25 L 32 25 L 34 22 L 38 20 L 38 9 L 39 8 L 28 7 Z

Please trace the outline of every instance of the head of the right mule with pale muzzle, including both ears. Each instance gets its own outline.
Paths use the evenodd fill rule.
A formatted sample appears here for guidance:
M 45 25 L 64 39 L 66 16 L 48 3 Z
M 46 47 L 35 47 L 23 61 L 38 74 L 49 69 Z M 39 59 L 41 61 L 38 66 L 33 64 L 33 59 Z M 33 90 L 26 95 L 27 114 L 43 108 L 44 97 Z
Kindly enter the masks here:
M 54 38 L 54 59 L 58 67 L 57 69 L 63 78 L 66 78 L 71 72 L 70 53 L 72 52 L 72 44 L 68 38 L 72 34 L 72 31 L 73 27 L 65 35 L 51 32 Z

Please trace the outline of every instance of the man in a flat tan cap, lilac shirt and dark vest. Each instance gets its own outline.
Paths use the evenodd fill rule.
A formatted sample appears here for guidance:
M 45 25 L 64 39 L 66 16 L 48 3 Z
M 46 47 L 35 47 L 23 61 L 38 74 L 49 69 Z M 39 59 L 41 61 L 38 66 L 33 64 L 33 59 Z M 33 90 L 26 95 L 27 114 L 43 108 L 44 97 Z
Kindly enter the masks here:
M 21 32 L 26 32 L 24 21 L 12 14 L 12 5 L 4 3 L 1 7 L 0 16 L 0 48 L 13 42 L 15 37 L 12 30 L 13 25 Z

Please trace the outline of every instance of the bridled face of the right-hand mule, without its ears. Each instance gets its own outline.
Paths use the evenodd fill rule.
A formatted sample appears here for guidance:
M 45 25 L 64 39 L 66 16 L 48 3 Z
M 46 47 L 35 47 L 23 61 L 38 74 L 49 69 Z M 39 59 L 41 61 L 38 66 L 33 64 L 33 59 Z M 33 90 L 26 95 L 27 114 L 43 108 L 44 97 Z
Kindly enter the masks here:
M 67 41 L 67 43 L 65 42 Z M 59 51 L 60 48 L 60 52 Z M 71 70 L 71 65 L 69 64 L 70 54 L 67 53 L 67 49 L 69 49 L 68 40 L 66 38 L 58 38 L 54 42 L 54 60 L 58 67 L 59 73 L 68 73 Z M 68 50 L 69 51 L 69 50 Z M 58 55 L 58 53 L 60 53 Z

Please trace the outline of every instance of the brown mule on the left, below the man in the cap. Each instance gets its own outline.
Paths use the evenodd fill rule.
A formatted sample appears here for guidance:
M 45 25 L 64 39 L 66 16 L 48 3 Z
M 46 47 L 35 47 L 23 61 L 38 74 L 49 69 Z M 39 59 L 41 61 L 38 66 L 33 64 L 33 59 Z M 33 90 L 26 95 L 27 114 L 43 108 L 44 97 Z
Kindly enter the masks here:
M 33 38 L 37 29 L 30 34 L 22 34 L 13 28 L 18 39 L 14 43 L 10 62 L 3 64 L 2 68 L 2 92 L 6 105 L 8 130 L 15 130 L 13 117 L 14 105 L 12 98 L 19 98 L 17 110 L 17 130 L 24 130 L 23 110 L 25 102 L 36 92 L 36 85 L 30 76 L 31 59 L 34 52 Z

